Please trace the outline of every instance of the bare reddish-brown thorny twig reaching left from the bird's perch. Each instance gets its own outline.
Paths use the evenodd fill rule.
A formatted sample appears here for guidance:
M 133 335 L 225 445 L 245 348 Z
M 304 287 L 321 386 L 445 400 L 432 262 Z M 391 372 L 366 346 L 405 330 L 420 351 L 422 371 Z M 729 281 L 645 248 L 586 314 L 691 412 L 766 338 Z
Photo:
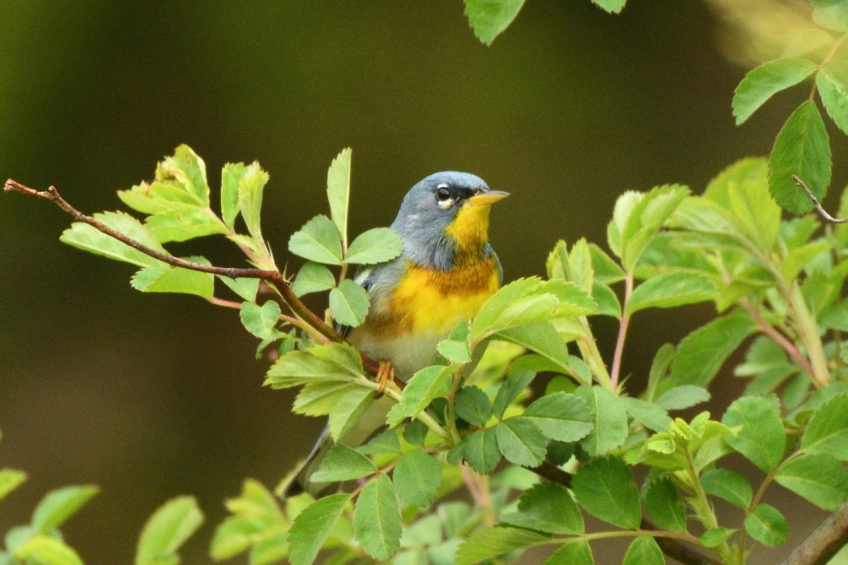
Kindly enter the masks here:
M 3 186 L 3 191 L 6 192 L 20 192 L 20 194 L 24 194 L 28 197 L 37 197 L 43 198 L 49 202 L 53 202 L 59 208 L 61 208 L 65 213 L 70 214 L 70 216 L 78 222 L 82 222 L 84 224 L 91 225 L 94 229 L 103 232 L 110 237 L 114 237 L 114 239 L 120 241 L 121 243 L 125 243 L 128 246 L 131 246 L 133 249 L 144 253 L 145 255 L 149 255 L 154 259 L 159 259 L 162 263 L 168 263 L 169 265 L 173 265 L 174 267 L 180 267 L 182 269 L 189 269 L 192 271 L 200 271 L 202 273 L 211 273 L 211 274 L 220 274 L 222 276 L 230 277 L 231 279 L 235 279 L 237 277 L 242 277 L 246 279 L 261 279 L 267 281 L 269 284 L 273 285 L 277 291 L 280 292 L 280 296 L 282 296 L 283 302 L 286 302 L 287 306 L 292 309 L 292 312 L 297 314 L 301 319 L 307 324 L 310 324 L 315 330 L 318 331 L 321 335 L 325 336 L 329 341 L 334 343 L 346 343 L 344 338 L 338 334 L 336 330 L 333 330 L 330 325 L 326 324 L 324 320 L 315 315 L 308 307 L 304 305 L 303 302 L 300 302 L 300 299 L 297 295 L 292 291 L 292 286 L 286 280 L 280 271 L 270 270 L 270 269 L 241 269 L 237 267 L 216 267 L 215 265 L 204 265 L 201 263 L 194 263 L 192 261 L 187 261 L 186 259 L 181 259 L 178 257 L 174 257 L 172 255 L 168 255 L 167 253 L 156 251 L 151 247 L 148 247 L 139 241 L 128 237 L 120 231 L 113 230 L 108 225 L 103 224 L 103 222 L 98 221 L 97 219 L 92 218 L 91 216 L 86 216 L 86 214 L 81 213 L 79 210 L 71 206 L 68 202 L 65 202 L 64 198 L 59 196 L 59 191 L 56 190 L 55 186 L 50 186 L 46 191 L 36 191 L 31 189 L 29 186 L 21 185 L 19 182 L 15 180 L 9 179 L 6 181 L 5 186 Z M 377 374 L 377 369 L 379 368 L 379 363 L 366 356 L 365 354 L 360 352 L 362 356 L 362 362 L 365 364 L 365 369 L 371 374 Z

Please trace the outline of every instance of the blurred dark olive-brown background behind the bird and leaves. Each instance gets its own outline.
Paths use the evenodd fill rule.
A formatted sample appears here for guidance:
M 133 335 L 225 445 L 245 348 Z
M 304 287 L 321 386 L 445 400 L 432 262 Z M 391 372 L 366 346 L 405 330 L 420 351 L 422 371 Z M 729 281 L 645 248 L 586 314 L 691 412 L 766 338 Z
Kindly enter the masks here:
M 351 146 L 354 232 L 388 225 L 437 170 L 510 191 L 491 237 L 511 280 L 542 274 L 560 238 L 605 246 L 622 191 L 700 192 L 735 159 L 767 154 L 806 97 L 781 94 L 736 128 L 730 99 L 746 69 L 722 55 L 733 31 L 705 3 L 631 0 L 611 16 L 589 0 L 528 0 L 493 47 L 462 11 L 460 0 L 3 0 L 0 175 L 53 184 L 91 213 L 119 208 L 114 191 L 150 179 L 183 142 L 214 192 L 223 163 L 258 159 L 282 267 L 288 235 L 326 210 L 327 166 Z M 839 159 L 835 171 L 844 184 Z M 323 423 L 261 387 L 267 363 L 237 313 L 131 290 L 130 266 L 59 243 L 69 221 L 0 196 L 0 466 L 30 474 L 3 501 L 0 531 L 28 521 L 47 490 L 94 483 L 102 492 L 66 538 L 87 563 L 131 562 L 153 509 L 192 493 L 209 519 L 185 562 L 206 562 L 224 498 L 244 477 L 276 485 Z M 172 251 L 242 264 L 222 239 Z M 656 348 L 710 315 L 635 319 L 624 372 L 636 392 Z M 611 352 L 616 326 L 596 325 Z

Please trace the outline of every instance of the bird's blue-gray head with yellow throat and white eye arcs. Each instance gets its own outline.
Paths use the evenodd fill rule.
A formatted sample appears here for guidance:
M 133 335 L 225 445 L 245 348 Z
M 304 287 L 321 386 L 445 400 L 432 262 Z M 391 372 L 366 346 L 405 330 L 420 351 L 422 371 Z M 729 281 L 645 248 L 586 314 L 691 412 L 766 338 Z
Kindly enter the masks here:
M 403 237 L 407 258 L 449 269 L 456 252 L 488 248 L 489 207 L 508 196 L 474 174 L 434 173 L 406 193 L 392 229 Z

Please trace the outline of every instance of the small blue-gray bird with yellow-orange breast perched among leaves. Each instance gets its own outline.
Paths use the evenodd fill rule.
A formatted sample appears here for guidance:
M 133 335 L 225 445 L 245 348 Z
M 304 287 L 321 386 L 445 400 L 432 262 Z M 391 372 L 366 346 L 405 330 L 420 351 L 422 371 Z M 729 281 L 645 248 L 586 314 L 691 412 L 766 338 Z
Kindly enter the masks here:
M 403 252 L 354 277 L 368 292 L 371 307 L 365 322 L 346 333 L 349 343 L 403 382 L 436 363 L 438 342 L 456 324 L 473 318 L 503 283 L 488 226 L 492 204 L 508 196 L 477 175 L 456 171 L 431 174 L 412 186 L 389 226 L 403 240 Z M 364 443 L 385 425 L 392 403 L 387 397 L 377 399 L 340 443 Z M 293 473 L 286 496 L 305 490 L 318 498 L 338 488 L 310 481 L 333 445 L 325 428 Z

